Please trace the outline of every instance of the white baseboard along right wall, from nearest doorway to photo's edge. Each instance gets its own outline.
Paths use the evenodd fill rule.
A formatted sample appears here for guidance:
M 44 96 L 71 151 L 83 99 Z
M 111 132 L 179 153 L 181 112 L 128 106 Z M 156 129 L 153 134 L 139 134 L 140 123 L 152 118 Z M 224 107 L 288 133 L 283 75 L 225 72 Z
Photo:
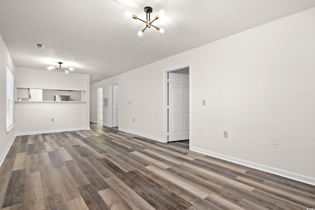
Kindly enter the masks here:
M 301 181 L 307 184 L 311 184 L 315 186 L 315 178 L 314 177 L 309 177 L 309 176 L 305 176 L 302 174 L 297 174 L 294 172 L 290 172 L 290 171 L 285 171 L 283 169 L 278 169 L 278 168 L 274 168 L 274 167 L 270 167 L 270 166 L 266 166 L 266 165 L 262 165 L 259 163 L 254 163 L 251 161 L 247 161 L 247 160 L 243 160 L 243 159 L 239 159 L 239 158 L 235 158 L 235 157 L 231 157 L 231 156 L 227 156 L 224 154 L 220 154 L 220 153 L 216 153 L 213 151 L 208 151 L 208 150 L 203 150 L 203 149 L 199 149 L 199 148 L 195 148 L 195 147 L 190 147 L 191 151 L 195 151 L 195 152 L 199 152 L 201 154 L 206 154 L 212 157 L 216 157 L 222 160 L 226 160 L 232 163 L 237 163 L 243 166 L 247 166 L 250 168 L 254 168 L 260 171 L 264 171 L 264 172 L 268 172 L 271 174 L 275 174 L 275 175 L 279 175 L 281 177 L 285 177 L 291 180 L 296 180 L 296 181 Z

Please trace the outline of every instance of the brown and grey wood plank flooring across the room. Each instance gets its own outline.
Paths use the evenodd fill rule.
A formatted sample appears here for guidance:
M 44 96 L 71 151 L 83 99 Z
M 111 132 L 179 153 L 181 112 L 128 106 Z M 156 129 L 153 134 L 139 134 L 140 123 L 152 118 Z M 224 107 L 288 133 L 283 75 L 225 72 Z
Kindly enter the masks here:
M 91 124 L 18 136 L 0 168 L 1 210 L 307 210 L 315 186 Z

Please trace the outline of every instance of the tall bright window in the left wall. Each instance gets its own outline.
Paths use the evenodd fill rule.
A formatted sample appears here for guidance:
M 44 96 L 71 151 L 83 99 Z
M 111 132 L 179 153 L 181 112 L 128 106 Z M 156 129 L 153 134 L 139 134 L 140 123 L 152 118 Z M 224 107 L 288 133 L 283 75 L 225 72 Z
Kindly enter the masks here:
M 6 130 L 13 127 L 13 74 L 6 66 Z

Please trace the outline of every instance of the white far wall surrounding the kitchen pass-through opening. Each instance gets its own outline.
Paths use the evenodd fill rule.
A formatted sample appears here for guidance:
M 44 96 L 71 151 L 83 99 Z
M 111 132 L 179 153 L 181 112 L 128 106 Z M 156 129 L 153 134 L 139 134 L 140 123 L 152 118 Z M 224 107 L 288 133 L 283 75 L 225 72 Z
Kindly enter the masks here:
M 16 102 L 17 135 L 90 129 L 90 75 L 17 67 L 16 87 L 84 91 L 82 102 Z

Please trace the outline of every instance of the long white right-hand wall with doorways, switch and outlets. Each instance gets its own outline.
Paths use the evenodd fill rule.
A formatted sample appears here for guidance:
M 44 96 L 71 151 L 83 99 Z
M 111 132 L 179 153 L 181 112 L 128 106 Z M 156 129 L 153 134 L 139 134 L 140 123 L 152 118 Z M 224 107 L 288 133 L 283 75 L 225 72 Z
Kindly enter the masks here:
M 312 8 L 101 81 L 91 92 L 119 83 L 119 128 L 163 140 L 164 72 L 190 65 L 191 150 L 315 185 L 314 20 Z

